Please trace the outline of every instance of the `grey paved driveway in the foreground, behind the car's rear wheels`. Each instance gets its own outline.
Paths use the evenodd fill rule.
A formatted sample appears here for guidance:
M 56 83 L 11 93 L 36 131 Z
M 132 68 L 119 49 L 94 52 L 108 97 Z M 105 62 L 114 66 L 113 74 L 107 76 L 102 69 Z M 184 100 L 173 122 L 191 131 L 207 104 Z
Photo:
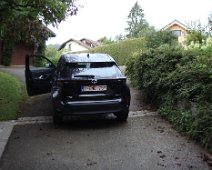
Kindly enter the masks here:
M 17 125 L 0 170 L 211 170 L 203 150 L 159 115 Z

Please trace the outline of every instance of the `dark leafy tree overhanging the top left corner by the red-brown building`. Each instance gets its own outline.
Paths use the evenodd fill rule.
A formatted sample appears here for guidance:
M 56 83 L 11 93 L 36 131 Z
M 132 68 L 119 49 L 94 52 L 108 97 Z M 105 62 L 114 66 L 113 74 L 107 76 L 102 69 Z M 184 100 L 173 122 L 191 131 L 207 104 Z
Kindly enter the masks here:
M 56 26 L 77 10 L 74 0 L 1 0 L 0 40 L 39 41 L 48 37 L 43 24 Z

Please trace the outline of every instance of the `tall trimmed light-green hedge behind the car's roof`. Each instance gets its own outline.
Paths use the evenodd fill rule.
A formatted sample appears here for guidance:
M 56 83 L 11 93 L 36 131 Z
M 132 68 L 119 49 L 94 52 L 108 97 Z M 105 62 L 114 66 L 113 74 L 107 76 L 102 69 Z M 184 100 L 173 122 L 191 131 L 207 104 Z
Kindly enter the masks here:
M 99 46 L 90 52 L 106 53 L 111 55 L 119 65 L 125 65 L 128 58 L 136 51 L 144 48 L 143 38 L 128 39 L 117 43 Z

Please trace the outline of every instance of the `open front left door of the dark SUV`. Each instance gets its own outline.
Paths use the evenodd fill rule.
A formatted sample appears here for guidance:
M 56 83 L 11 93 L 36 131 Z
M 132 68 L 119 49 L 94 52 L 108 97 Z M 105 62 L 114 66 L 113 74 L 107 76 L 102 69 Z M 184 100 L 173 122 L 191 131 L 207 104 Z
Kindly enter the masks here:
M 29 96 L 49 93 L 54 81 L 56 67 L 46 57 L 25 56 L 25 79 Z

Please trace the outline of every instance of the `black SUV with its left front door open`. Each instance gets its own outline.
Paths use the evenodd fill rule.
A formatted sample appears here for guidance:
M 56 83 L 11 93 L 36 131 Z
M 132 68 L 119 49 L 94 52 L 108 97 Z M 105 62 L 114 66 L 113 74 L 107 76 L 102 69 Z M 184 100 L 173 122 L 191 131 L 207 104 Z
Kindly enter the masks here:
M 55 123 L 73 114 L 114 113 L 117 120 L 128 118 L 130 90 L 111 56 L 66 53 L 55 67 L 43 56 L 27 55 L 25 65 L 28 94 L 51 91 Z

